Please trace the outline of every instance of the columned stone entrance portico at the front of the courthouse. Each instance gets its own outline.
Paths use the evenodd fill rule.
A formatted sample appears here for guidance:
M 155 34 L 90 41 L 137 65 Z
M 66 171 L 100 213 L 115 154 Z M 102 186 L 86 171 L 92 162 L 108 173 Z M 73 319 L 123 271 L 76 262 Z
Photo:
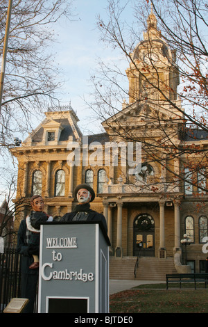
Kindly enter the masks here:
M 153 243 L 155 257 L 166 257 L 166 239 L 168 234 L 172 234 L 172 250 L 168 241 L 168 255 L 173 256 L 176 251 L 180 251 L 180 195 L 172 193 L 168 199 L 155 193 L 128 193 L 127 185 L 123 184 L 122 193 L 111 193 L 111 188 L 120 189 L 121 184 L 105 185 L 103 188 L 103 214 L 107 220 L 108 237 L 112 246 L 112 255 L 122 257 L 123 255 L 134 255 L 134 242 L 138 243 L 138 237 L 134 230 L 135 219 L 139 214 L 144 213 L 154 221 Z M 127 187 L 126 187 L 127 186 Z M 131 191 L 135 186 L 132 185 Z M 105 193 L 105 191 L 109 193 Z M 148 209 L 149 208 L 149 209 Z M 152 208 L 152 209 L 150 209 Z M 124 218 L 123 218 L 124 215 Z M 168 215 L 168 218 L 166 216 Z M 144 216 L 145 217 L 145 216 Z M 123 222 L 124 219 L 124 222 Z M 148 219 L 148 218 L 146 218 Z M 146 229 L 152 226 L 146 226 Z M 171 228 L 171 229 L 170 229 Z M 141 228 L 144 231 L 145 227 Z M 113 230 L 116 230 L 116 232 Z M 124 235 L 126 234 L 125 240 Z M 139 232 L 139 235 L 144 232 Z M 130 241 L 131 240 L 131 241 Z M 123 242 L 125 244 L 123 244 Z M 144 246 L 147 248 L 146 242 Z

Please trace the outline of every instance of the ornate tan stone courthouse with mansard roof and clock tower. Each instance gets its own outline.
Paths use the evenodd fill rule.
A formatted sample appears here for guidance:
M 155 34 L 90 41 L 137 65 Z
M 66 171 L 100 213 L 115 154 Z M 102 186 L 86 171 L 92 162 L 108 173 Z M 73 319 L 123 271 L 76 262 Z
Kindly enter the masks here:
M 150 49 L 148 45 L 151 45 Z M 140 73 L 142 65 L 146 67 L 149 61 L 154 61 L 157 66 L 163 94 L 177 104 L 180 111 L 176 111 L 165 97 L 162 99 L 155 88 L 153 65 Z M 135 63 L 137 67 L 141 66 L 139 70 Z M 207 196 L 202 196 L 203 206 L 198 209 L 201 200 L 194 196 L 197 186 L 187 187 L 186 181 L 171 179 L 171 174 L 185 172 L 183 154 L 171 161 L 170 157 L 167 160 L 164 150 L 160 154 L 157 149 L 154 150 L 157 152 L 154 161 L 153 156 L 151 159 L 150 154 L 148 156 L 148 150 L 143 152 L 143 144 L 150 145 L 150 140 L 153 140 L 153 145 L 158 144 L 164 138 L 167 147 L 168 142 L 177 147 L 183 142 L 207 149 L 207 135 L 200 131 L 194 137 L 184 133 L 183 109 L 176 95 L 179 76 L 174 64 L 175 52 L 162 39 L 151 13 L 144 40 L 135 48 L 132 63 L 126 70 L 128 103 L 123 101 L 121 110 L 103 122 L 105 132 L 84 137 L 75 111 L 66 106 L 48 110 L 44 121 L 21 146 L 12 149 L 19 163 L 16 202 L 22 198 L 28 201 L 33 194 L 40 193 L 46 212 L 58 220 L 77 204 L 73 198 L 76 185 L 86 182 L 93 187 L 96 198 L 91 207 L 104 214 L 111 242 L 110 278 L 133 279 L 136 276 L 143 280 L 162 280 L 166 273 L 190 269 L 202 272 L 205 269 L 207 255 L 203 246 L 208 236 Z M 152 81 L 152 88 L 146 77 Z M 122 165 L 121 156 L 118 156 L 118 165 L 104 163 L 105 145 L 110 142 L 121 145 L 125 139 L 128 140 L 125 138 L 127 131 L 131 131 L 129 141 L 142 141 L 140 173 L 128 173 L 130 163 Z M 167 138 L 167 135 L 171 137 Z M 93 142 L 102 145 L 103 151 L 103 161 L 96 166 L 87 160 L 90 155 L 93 158 L 94 151 L 90 150 Z M 76 150 L 73 144 L 76 144 Z M 80 164 L 70 166 L 70 158 L 73 158 L 70 154 L 76 154 Z M 206 185 L 207 180 L 202 182 Z M 25 218 L 28 211 L 26 205 L 19 218 Z M 190 239 L 188 246 L 181 242 L 185 233 Z

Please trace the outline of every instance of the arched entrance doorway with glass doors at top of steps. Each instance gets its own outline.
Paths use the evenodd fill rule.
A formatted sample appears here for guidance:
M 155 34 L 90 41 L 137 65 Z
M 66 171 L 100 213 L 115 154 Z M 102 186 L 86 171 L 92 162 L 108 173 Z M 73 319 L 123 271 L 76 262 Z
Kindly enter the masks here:
M 148 214 L 139 214 L 134 221 L 133 255 L 155 257 L 155 221 Z

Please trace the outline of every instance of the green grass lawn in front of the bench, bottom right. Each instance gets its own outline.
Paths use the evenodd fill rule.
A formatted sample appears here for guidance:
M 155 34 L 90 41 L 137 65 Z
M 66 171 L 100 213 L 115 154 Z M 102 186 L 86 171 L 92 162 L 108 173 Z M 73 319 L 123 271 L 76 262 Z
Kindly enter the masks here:
M 190 285 L 140 285 L 110 296 L 110 313 L 208 313 L 208 288 Z M 176 287 L 176 288 L 173 288 Z M 154 289 L 153 289 L 154 288 Z

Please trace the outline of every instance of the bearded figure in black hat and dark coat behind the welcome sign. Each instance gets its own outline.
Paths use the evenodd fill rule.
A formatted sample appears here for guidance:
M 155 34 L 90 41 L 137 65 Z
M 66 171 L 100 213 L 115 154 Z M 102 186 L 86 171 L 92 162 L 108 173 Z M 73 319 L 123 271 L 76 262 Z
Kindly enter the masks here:
M 78 200 L 78 205 L 76 205 L 73 212 L 64 214 L 60 221 L 102 221 L 107 232 L 107 223 L 103 214 L 90 209 L 89 202 L 92 202 L 95 198 L 92 187 L 88 184 L 79 184 L 73 194 Z

